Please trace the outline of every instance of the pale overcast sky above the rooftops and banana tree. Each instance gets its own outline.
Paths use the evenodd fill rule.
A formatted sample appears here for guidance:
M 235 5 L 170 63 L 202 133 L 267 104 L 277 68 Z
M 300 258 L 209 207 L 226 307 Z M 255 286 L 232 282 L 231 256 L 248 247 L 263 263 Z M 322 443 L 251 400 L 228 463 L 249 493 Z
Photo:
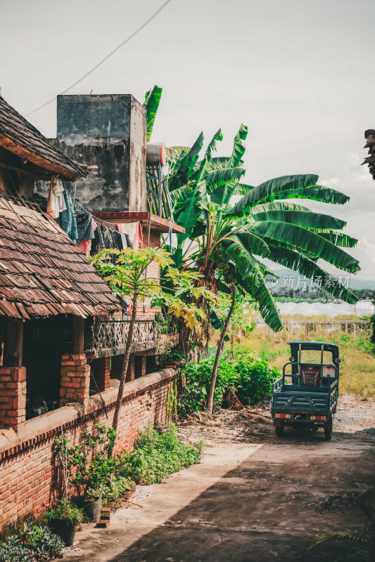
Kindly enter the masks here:
M 67 89 L 142 25 L 163 0 L 0 0 L 1 95 L 23 115 Z M 309 203 L 359 239 L 356 277 L 375 279 L 375 181 L 361 166 L 375 128 L 375 0 L 171 0 L 69 93 L 163 86 L 153 141 L 191 145 L 222 127 L 227 155 L 241 123 L 250 185 L 318 174 L 350 196 Z M 28 117 L 56 136 L 56 102 Z M 331 273 L 335 273 L 332 272 Z

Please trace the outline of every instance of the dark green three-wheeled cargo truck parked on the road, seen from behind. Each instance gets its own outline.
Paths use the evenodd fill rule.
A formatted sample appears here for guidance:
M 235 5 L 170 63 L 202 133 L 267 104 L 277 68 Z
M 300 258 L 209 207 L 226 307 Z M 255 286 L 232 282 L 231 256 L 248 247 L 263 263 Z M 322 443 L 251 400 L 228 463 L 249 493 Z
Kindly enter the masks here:
M 295 429 L 324 428 L 332 437 L 336 413 L 340 358 L 338 346 L 322 341 L 291 341 L 291 358 L 272 384 L 272 419 L 281 437 L 286 424 Z

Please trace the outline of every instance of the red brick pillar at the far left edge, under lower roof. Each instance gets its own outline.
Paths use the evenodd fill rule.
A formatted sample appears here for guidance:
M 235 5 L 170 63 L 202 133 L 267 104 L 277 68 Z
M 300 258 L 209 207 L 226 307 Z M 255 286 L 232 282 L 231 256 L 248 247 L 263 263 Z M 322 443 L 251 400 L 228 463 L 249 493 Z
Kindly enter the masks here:
M 26 419 L 26 367 L 0 367 L 0 421 L 15 431 Z

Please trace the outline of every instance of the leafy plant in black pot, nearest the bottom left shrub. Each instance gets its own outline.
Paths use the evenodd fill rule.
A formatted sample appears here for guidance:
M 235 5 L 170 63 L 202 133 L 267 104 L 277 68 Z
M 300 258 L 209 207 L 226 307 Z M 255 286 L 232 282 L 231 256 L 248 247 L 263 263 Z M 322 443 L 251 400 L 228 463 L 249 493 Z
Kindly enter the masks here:
M 46 517 L 51 530 L 63 539 L 67 547 L 71 547 L 77 524 L 84 520 L 82 509 L 68 499 L 61 499 L 55 507 L 47 511 Z

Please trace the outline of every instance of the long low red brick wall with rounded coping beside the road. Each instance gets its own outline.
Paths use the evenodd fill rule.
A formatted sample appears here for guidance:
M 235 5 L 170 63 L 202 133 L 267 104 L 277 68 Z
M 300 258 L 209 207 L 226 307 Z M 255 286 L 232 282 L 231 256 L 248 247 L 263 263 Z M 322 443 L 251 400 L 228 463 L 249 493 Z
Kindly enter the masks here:
M 68 361 L 65 359 L 64 377 L 70 380 L 65 384 L 74 381 L 80 373 L 68 370 L 74 366 L 66 365 Z M 167 398 L 176 377 L 176 370 L 165 369 L 125 385 L 115 452 L 129 450 L 138 431 L 148 422 L 164 425 L 170 421 Z M 98 422 L 110 426 L 118 386 L 117 381 L 110 383 L 111 387 L 101 395 L 106 410 L 100 398 L 93 396 L 87 399 L 85 407 L 65 405 L 26 421 L 17 434 L 13 429 L 0 430 L 0 529 L 20 517 L 37 517 L 48 509 L 56 497 L 53 440 L 60 435 L 61 426 L 70 432 L 73 442 L 78 441 L 80 431 L 93 429 Z

